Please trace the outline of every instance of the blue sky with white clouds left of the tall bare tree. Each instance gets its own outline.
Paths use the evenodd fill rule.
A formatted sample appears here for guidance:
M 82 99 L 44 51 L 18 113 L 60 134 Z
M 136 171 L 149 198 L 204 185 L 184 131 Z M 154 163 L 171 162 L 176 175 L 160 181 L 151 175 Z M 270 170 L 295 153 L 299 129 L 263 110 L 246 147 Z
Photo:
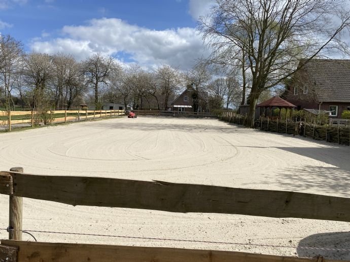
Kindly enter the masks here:
M 187 69 L 202 56 L 196 20 L 213 0 L 0 0 L 0 32 L 27 52 L 101 52 L 122 63 Z

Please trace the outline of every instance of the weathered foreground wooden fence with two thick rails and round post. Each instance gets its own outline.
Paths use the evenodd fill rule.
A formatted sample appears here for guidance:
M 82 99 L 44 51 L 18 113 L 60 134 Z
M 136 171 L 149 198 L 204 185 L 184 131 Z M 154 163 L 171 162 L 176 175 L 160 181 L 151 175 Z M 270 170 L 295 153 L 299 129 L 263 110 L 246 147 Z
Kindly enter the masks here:
M 208 212 L 350 221 L 350 209 L 348 208 L 350 198 L 163 181 L 32 175 L 24 174 L 21 168 L 11 170 L 13 171 L 0 172 L 0 194 L 10 196 L 9 226 L 12 229 L 9 235 L 10 240 L 1 241 L 1 262 L 336 261 L 323 259 L 322 257 L 298 258 L 231 251 L 21 241 L 22 197 L 55 201 L 74 206 L 105 206 L 168 212 Z M 11 234 L 11 232 L 18 234 Z

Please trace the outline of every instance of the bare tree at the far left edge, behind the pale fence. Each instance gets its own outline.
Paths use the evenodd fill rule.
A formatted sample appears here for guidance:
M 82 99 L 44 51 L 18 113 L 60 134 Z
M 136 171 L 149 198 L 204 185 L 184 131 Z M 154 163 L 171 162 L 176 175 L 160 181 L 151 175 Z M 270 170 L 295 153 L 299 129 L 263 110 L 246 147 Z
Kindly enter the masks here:
M 23 58 L 23 47 L 21 42 L 10 35 L 0 35 L 0 80 L 5 88 L 6 107 L 15 107 L 12 99 L 12 90 L 16 80 L 16 72 L 20 69 Z

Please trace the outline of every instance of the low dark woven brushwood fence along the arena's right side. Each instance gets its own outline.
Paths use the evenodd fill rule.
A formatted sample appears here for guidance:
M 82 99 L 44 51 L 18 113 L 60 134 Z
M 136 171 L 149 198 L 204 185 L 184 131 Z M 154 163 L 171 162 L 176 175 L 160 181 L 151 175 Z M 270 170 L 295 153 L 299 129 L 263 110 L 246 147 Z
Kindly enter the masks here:
M 233 113 L 225 113 L 221 119 L 230 123 L 244 125 L 246 116 Z M 283 134 L 302 135 L 316 140 L 324 140 L 338 144 L 350 145 L 350 126 L 337 125 L 316 125 L 305 121 L 281 121 L 260 117 L 254 122 L 254 127 L 263 131 L 277 132 Z

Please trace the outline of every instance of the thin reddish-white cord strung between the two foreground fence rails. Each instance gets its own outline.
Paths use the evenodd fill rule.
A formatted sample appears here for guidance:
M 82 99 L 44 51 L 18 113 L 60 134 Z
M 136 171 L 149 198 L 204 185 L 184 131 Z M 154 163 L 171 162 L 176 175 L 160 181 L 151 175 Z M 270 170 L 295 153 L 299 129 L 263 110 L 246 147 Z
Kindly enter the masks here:
M 2 229 L 5 230 L 7 229 Z M 13 229 L 10 229 L 13 230 Z M 15 230 L 13 230 L 15 231 Z M 23 230 L 19 230 L 22 231 Z M 350 251 L 350 249 L 341 248 L 326 248 L 326 247 L 302 247 L 302 246 L 281 246 L 281 245 L 266 245 L 266 244 L 252 244 L 252 243 L 237 243 L 237 242 L 218 242 L 218 241 L 205 241 L 205 240 L 187 240 L 187 239 L 171 239 L 171 238 L 150 238 L 150 237 L 130 237 L 130 236 L 118 236 L 118 235 L 103 235 L 103 234 L 86 234 L 86 233 L 73 233 L 73 232 L 55 232 L 55 231 L 40 231 L 40 230 L 25 230 L 32 233 L 48 233 L 48 234 L 63 234 L 63 235 L 78 235 L 78 236 L 93 236 L 93 237 L 114 237 L 114 238 L 128 238 L 128 239 L 147 239 L 147 240 L 162 240 L 162 241 L 178 241 L 178 242 L 191 242 L 191 243 L 206 243 L 206 244 L 225 244 L 225 245 L 242 245 L 242 246 L 262 246 L 262 247 L 279 247 L 279 248 L 300 248 L 300 249 L 316 249 L 316 250 L 328 250 L 328 251 Z

